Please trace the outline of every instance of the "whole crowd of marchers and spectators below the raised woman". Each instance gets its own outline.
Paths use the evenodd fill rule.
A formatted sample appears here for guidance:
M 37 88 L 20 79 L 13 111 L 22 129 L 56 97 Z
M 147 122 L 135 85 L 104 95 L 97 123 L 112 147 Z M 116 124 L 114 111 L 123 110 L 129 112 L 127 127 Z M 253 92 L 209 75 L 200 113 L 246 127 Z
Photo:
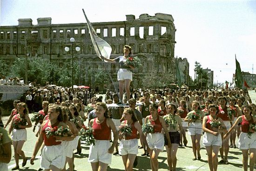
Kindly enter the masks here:
M 243 151 L 243 167 L 247 168 L 248 150 L 250 150 L 249 164 L 250 169 L 253 170 L 255 165 L 253 149 L 256 149 L 256 133 L 255 130 L 249 129 L 248 124 L 256 123 L 256 105 L 252 103 L 247 90 L 132 89 L 128 101 L 129 108 L 107 108 L 106 103 L 117 104 L 119 102 L 118 95 L 116 92 L 107 90 L 105 99 L 103 96 L 96 98 L 96 91 L 64 88 L 56 85 L 30 86 L 20 99 L 15 100 L 9 119 L 7 121 L 0 120 L 0 126 L 4 128 L 9 126 L 9 134 L 12 135 L 16 161 L 16 166 L 12 170 L 20 168 L 19 156 L 23 159 L 22 167 L 27 164 L 27 157 L 22 151 L 22 146 L 27 139 L 27 127 L 34 127 L 33 131 L 38 137 L 38 140 L 34 142 L 35 148 L 30 160 L 31 164 L 33 164 L 34 156 L 40 149 L 40 144 L 44 141 L 45 146 L 42 147 L 41 168 L 39 170 L 53 168 L 61 170 L 65 168 L 65 163 L 68 163 L 69 168 L 73 168 L 72 158 L 74 157 L 72 154 L 75 149 L 77 149 L 76 153 L 81 154 L 79 140 L 81 132 L 79 133 L 79 131 L 86 127 L 84 126 L 85 120 L 89 120 L 88 124 L 92 128 L 95 138 L 95 144 L 90 146 L 88 152 L 88 161 L 93 170 L 99 165 L 103 170 L 106 170 L 107 166 L 111 164 L 111 153 L 120 154 L 123 161 L 126 161 L 126 165 L 120 166 L 120 168 L 125 167 L 125 170 L 132 170 L 136 166 L 139 144 L 144 149 L 141 156 L 149 156 L 151 168 L 155 171 L 158 170 L 157 156 L 165 146 L 169 170 L 175 171 L 176 165 L 179 165 L 176 158 L 178 146 L 187 146 L 188 143 L 186 131 L 189 132 L 192 140 L 193 160 L 201 159 L 198 142 L 203 135 L 203 144 L 207 147 L 208 154 L 211 154 L 208 155 L 210 171 L 217 170 L 218 159 L 214 155 L 217 155 L 219 151 L 221 154 L 219 162 L 229 164 L 229 147 L 236 148 L 236 136 L 239 137 L 239 148 Z M 126 101 L 126 96 L 124 96 L 123 101 Z M 136 106 L 136 103 L 142 103 L 142 105 Z M 235 112 L 232 113 L 231 110 Z M 31 123 L 32 118 L 28 117 L 28 113 L 42 115 L 43 119 Z M 17 119 L 25 119 L 26 122 L 22 124 L 20 122 L 17 125 L 15 124 Z M 33 119 L 35 120 L 35 118 Z M 210 124 L 214 120 L 220 122 L 218 127 Z M 245 123 L 246 121 L 248 123 Z M 97 127 L 97 125 L 101 125 L 104 129 Z M 123 125 L 131 127 L 132 132 L 122 132 L 120 127 Z M 150 125 L 152 132 L 145 133 L 146 129 L 151 129 Z M 246 128 L 248 129 L 247 132 L 244 132 L 244 125 L 248 127 Z M 69 128 L 68 136 L 55 137 L 52 135 L 47 138 L 47 127 L 53 128 L 55 126 Z M 38 127 L 37 130 L 36 127 Z M 6 139 L 2 146 L 5 147 L 3 154 L 7 159 L 0 161 L 0 170 L 5 171 L 7 170 L 6 164 L 9 162 L 8 158 L 10 158 L 11 138 L 3 128 L 0 131 L 5 135 L 1 138 Z M 242 135 L 244 139 L 240 139 Z M 250 142 L 247 142 L 248 136 L 251 137 Z M 117 145 L 118 138 L 120 140 L 119 147 Z M 245 141 L 247 144 L 244 144 Z M 241 144 L 243 147 L 240 146 Z M 127 145 L 136 146 L 136 148 L 127 149 Z M 67 148 L 67 146 L 72 146 L 72 148 Z M 106 146 L 107 148 L 97 151 L 95 146 Z M 211 147 L 211 150 L 208 147 Z M 53 156 L 53 154 L 47 153 L 49 149 L 58 153 Z M 100 157 L 98 157 L 99 154 L 101 154 Z M 127 162 L 128 158 L 130 163 Z

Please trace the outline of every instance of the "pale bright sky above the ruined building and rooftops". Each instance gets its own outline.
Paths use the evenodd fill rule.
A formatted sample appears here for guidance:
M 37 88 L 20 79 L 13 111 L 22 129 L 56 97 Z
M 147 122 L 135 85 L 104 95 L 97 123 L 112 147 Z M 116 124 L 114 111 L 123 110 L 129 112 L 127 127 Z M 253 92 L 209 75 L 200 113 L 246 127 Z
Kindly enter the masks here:
M 125 21 L 143 13 L 174 18 L 175 57 L 214 71 L 214 82 L 232 82 L 235 54 L 241 70 L 256 74 L 256 0 L 0 0 L 0 25 L 51 17 L 52 24 Z M 254 71 L 253 71 L 254 64 Z

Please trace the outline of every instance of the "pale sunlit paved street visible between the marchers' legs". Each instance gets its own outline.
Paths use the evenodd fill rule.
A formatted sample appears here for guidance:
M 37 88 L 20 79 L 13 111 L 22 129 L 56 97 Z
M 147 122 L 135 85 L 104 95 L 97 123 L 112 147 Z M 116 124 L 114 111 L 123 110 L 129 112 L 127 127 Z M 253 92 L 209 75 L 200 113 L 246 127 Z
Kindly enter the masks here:
M 249 92 L 252 101 L 255 102 L 256 100 L 256 93 L 254 91 Z M 4 123 L 6 122 L 7 117 L 2 118 L 4 120 Z M 32 152 L 34 150 L 34 145 L 36 141 L 36 137 L 34 136 L 35 133 L 32 132 L 32 128 L 27 129 L 27 142 L 25 143 L 23 147 L 23 151 L 25 152 L 26 156 L 28 158 L 31 157 Z M 202 160 L 196 160 L 193 161 L 193 152 L 192 152 L 192 144 L 191 139 L 187 135 L 187 138 L 189 140 L 187 147 L 179 147 L 177 152 L 177 171 L 203 171 L 203 170 L 209 170 L 208 163 L 207 163 L 207 155 L 206 150 L 202 146 L 202 139 L 201 139 L 201 156 Z M 237 140 L 236 140 L 237 142 Z M 236 144 L 237 146 L 237 144 Z M 75 155 L 74 165 L 75 170 L 77 171 L 91 171 L 91 166 L 87 162 L 88 159 L 88 146 L 85 146 L 82 143 L 82 154 L 81 155 Z M 150 171 L 150 161 L 148 157 L 141 157 L 142 150 L 139 149 L 138 154 L 138 165 L 135 168 L 135 171 Z M 38 154 L 40 155 L 40 153 Z M 39 157 L 39 156 L 38 156 Z M 228 171 L 242 171 L 243 165 L 242 165 L 242 152 L 239 149 L 230 149 L 229 152 L 229 165 L 219 165 L 219 170 L 228 170 Z M 220 160 L 220 157 L 219 157 Z M 168 164 L 167 164 L 167 154 L 166 152 L 161 152 L 160 156 L 158 158 L 159 161 L 159 171 L 168 171 Z M 40 167 L 39 159 L 35 160 L 34 165 L 30 165 L 29 161 L 27 165 L 22 168 L 21 167 L 22 159 L 20 159 L 20 170 L 21 171 L 37 171 Z M 15 166 L 14 158 L 12 158 L 11 162 L 8 164 L 9 169 Z M 113 156 L 112 157 L 112 164 L 108 167 L 108 171 L 123 171 L 124 166 L 122 164 L 121 156 Z

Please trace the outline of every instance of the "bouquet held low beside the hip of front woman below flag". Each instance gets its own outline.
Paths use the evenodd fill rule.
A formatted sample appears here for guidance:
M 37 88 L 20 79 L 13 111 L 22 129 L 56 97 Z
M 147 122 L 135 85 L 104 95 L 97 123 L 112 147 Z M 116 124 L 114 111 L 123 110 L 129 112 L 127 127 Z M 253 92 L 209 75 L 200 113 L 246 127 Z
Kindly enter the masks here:
M 95 139 L 93 135 L 93 129 L 91 127 L 82 126 L 82 129 L 79 132 L 80 140 L 85 141 L 86 145 L 95 145 Z

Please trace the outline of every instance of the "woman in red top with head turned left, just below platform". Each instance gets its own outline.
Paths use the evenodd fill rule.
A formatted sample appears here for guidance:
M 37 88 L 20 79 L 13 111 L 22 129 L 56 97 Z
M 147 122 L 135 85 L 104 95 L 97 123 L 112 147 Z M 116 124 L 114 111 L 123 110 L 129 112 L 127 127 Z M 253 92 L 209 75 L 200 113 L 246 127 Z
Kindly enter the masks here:
M 123 112 L 123 116 L 125 120 L 122 121 L 121 125 L 130 126 L 132 133 L 119 133 L 119 139 L 121 139 L 119 154 L 122 156 L 125 171 L 133 171 L 133 164 L 138 154 L 137 132 L 140 134 L 140 139 L 145 143 L 147 149 L 149 149 L 149 147 L 134 110 L 132 108 L 126 108 Z

